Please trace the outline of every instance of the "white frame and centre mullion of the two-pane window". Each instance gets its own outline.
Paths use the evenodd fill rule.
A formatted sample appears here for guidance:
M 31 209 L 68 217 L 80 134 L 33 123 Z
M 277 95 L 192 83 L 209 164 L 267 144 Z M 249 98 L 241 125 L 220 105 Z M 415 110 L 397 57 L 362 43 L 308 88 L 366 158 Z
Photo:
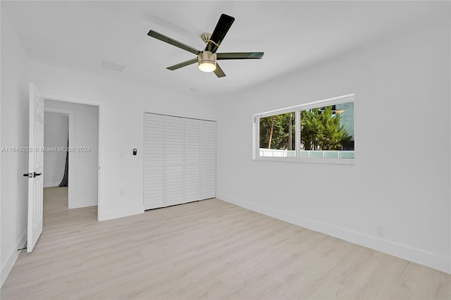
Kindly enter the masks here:
M 347 102 L 354 102 L 354 94 L 347 94 L 344 96 L 333 97 L 320 101 L 309 102 L 307 104 L 301 104 L 297 106 L 290 106 L 286 108 L 276 109 L 274 111 L 266 111 L 264 113 L 256 113 L 253 115 L 252 132 L 254 135 L 252 144 L 252 159 L 255 161 L 289 161 L 297 163 L 338 163 L 338 164 L 354 164 L 355 158 L 302 158 L 299 157 L 299 145 L 301 141 L 300 130 L 300 112 L 310 108 L 319 108 L 323 106 L 330 106 L 335 104 L 344 104 Z M 354 108 L 355 112 L 355 108 Z M 295 151 L 296 157 L 271 157 L 271 156 L 259 156 L 259 144 L 260 144 L 260 118 L 269 117 L 271 115 L 280 115 L 282 113 L 295 113 Z M 355 117 L 355 114 L 354 114 Z M 355 118 L 354 118 L 355 125 Z M 355 137 L 355 132 L 354 132 Z M 354 145 L 355 147 L 355 145 Z M 354 149 L 355 151 L 355 149 Z

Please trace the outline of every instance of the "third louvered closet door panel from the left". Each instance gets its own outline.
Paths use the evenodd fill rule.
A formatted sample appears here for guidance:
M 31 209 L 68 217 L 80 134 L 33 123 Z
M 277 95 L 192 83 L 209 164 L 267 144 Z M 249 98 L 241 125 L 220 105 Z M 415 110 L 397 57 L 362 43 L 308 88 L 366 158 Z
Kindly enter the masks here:
M 201 120 L 185 119 L 185 202 L 201 199 Z

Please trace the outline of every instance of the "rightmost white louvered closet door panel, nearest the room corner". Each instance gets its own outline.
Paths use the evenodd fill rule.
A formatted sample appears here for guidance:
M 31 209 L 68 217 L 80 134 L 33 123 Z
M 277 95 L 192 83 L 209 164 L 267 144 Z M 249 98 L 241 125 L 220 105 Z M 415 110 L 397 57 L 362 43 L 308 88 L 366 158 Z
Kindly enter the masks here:
M 201 124 L 201 199 L 216 197 L 216 123 L 202 121 Z

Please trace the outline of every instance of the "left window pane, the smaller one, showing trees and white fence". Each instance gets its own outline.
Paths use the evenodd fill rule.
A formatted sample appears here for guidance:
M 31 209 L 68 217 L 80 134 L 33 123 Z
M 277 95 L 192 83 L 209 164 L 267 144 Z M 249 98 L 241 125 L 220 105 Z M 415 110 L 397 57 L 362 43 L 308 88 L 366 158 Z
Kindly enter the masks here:
M 260 118 L 259 156 L 295 157 L 295 113 Z

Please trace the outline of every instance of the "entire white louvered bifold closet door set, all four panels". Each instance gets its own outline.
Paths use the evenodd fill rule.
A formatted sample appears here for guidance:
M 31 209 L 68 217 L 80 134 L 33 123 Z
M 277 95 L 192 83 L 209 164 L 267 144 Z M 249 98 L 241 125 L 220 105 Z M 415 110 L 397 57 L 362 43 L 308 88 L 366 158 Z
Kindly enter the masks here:
M 144 209 L 216 196 L 216 123 L 144 114 Z

